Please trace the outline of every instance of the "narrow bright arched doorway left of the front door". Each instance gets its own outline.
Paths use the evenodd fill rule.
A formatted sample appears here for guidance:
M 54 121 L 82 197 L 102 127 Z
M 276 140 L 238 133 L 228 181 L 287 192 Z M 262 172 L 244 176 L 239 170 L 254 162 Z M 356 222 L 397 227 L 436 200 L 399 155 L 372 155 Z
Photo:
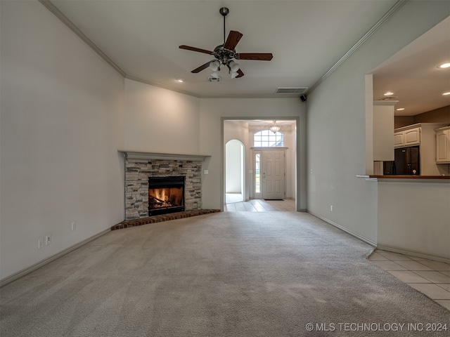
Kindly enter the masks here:
M 245 147 L 239 140 L 225 145 L 225 202 L 240 202 L 245 195 Z

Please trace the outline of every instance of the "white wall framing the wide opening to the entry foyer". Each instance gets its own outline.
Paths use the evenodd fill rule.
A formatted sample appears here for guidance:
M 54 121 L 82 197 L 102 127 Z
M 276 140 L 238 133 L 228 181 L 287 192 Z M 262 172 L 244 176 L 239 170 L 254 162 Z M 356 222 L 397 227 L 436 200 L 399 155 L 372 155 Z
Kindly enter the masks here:
M 295 117 L 300 119 L 300 124 L 302 124 L 300 125 L 300 128 L 302 128 L 302 126 L 305 126 L 304 114 L 304 104 L 299 98 L 201 99 L 200 153 L 212 154 L 212 157 L 204 166 L 208 169 L 209 174 L 203 176 L 203 208 L 221 209 L 223 205 L 223 186 L 221 186 L 221 180 L 224 176 L 224 133 L 222 129 L 222 119 L 242 119 L 250 117 L 255 119 L 264 118 L 281 120 Z M 302 134 L 302 136 L 304 135 Z M 299 138 L 297 139 L 297 148 L 300 148 L 300 145 L 304 146 Z M 302 152 L 300 156 L 304 156 L 304 152 Z M 304 158 L 299 160 L 304 160 Z M 303 172 L 299 174 L 303 174 Z M 302 199 L 302 201 L 306 204 L 305 199 Z

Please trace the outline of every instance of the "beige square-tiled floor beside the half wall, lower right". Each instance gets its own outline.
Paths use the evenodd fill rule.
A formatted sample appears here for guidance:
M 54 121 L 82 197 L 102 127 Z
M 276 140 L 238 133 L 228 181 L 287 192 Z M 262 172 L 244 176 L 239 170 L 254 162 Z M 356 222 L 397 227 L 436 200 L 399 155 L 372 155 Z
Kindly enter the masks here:
M 416 256 L 375 250 L 368 258 L 401 282 L 450 310 L 450 265 Z

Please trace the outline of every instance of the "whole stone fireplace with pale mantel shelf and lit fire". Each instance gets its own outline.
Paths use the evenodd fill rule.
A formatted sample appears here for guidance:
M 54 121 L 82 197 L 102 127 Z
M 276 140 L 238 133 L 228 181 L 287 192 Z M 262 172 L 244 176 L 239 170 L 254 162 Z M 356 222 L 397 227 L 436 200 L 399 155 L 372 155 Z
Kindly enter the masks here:
M 189 154 L 161 154 L 150 152 L 120 151 L 125 156 L 125 220 L 148 218 L 150 203 L 162 207 L 153 207 L 152 216 L 160 212 L 193 211 L 202 208 L 202 163 L 205 157 Z M 178 177 L 184 180 L 183 196 L 184 205 L 164 205 L 165 201 L 178 202 L 179 187 L 176 190 L 167 191 L 169 196 L 161 194 L 150 196 L 149 178 L 157 178 L 160 182 L 167 183 L 166 178 Z M 181 178 L 179 178 L 181 177 Z M 167 184 L 166 184 L 167 185 Z M 172 186 L 173 187 L 173 186 Z M 150 196 L 150 203 L 149 203 Z M 161 197 L 162 196 L 162 197 Z M 184 209 L 182 209 L 184 207 Z M 158 211 L 154 208 L 166 208 Z

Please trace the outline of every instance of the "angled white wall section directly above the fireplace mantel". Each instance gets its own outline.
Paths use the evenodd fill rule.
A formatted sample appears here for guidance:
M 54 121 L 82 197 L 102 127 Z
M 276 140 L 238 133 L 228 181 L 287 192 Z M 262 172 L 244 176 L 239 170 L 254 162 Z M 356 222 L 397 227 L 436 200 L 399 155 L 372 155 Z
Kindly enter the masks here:
M 198 98 L 125 80 L 125 150 L 200 154 Z

